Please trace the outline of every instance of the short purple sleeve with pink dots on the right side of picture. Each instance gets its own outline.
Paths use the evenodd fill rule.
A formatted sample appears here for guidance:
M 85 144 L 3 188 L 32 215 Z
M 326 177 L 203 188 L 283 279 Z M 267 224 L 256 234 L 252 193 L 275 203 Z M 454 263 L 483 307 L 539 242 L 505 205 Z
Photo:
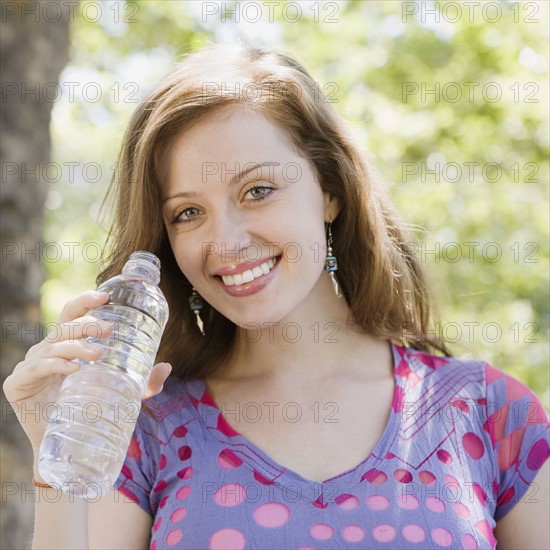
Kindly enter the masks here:
M 485 365 L 487 421 L 496 462 L 495 521 L 522 498 L 537 499 L 531 485 L 550 455 L 549 423 L 538 397 L 512 376 Z

